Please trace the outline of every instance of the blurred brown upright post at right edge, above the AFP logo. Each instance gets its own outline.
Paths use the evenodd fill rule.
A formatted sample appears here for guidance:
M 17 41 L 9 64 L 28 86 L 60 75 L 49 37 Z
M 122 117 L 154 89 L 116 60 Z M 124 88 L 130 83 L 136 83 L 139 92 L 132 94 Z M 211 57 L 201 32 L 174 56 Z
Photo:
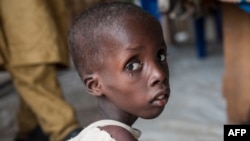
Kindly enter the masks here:
M 250 124 L 250 1 L 221 0 L 225 71 L 223 95 L 230 124 Z

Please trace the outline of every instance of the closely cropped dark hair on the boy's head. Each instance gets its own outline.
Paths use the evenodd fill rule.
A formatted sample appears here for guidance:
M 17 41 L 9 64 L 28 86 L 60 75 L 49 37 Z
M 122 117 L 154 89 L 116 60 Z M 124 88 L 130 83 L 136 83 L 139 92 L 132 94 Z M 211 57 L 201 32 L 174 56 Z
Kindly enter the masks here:
M 114 49 L 107 46 L 110 44 L 109 36 L 121 29 L 125 17 L 138 20 L 150 17 L 155 20 L 137 6 L 116 2 L 92 7 L 76 18 L 69 32 L 68 43 L 81 76 L 93 73 L 103 65 L 105 55 Z

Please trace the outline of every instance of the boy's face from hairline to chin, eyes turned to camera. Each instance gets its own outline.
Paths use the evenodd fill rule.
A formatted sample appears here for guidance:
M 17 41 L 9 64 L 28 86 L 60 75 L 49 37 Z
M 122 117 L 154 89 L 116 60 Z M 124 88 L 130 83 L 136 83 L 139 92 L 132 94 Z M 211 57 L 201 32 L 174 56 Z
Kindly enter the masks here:
M 123 115 L 155 118 L 170 94 L 161 27 L 152 20 L 133 18 L 117 27 L 105 33 L 110 52 L 100 71 L 102 92 Z

